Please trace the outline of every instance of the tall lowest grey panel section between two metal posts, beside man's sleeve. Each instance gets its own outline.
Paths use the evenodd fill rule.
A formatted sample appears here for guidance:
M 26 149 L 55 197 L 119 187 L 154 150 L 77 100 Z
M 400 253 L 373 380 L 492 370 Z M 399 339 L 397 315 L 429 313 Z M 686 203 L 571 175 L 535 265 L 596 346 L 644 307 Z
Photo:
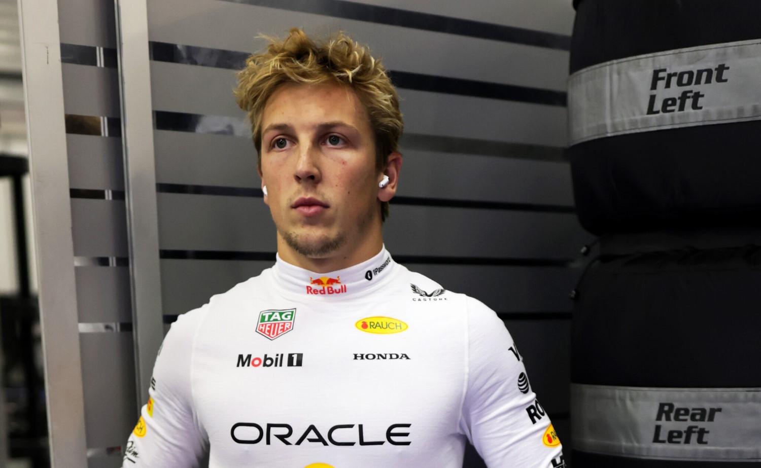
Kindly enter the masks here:
M 132 333 L 80 333 L 79 340 L 88 447 L 124 445 L 137 422 Z

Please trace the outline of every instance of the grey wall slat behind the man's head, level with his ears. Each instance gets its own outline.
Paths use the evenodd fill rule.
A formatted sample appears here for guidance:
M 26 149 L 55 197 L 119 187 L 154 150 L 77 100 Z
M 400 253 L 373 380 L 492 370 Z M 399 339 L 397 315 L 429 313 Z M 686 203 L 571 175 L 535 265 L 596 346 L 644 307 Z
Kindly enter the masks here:
M 159 183 L 260 187 L 250 138 L 164 130 L 154 138 Z M 399 196 L 573 205 L 567 163 L 401 151 Z

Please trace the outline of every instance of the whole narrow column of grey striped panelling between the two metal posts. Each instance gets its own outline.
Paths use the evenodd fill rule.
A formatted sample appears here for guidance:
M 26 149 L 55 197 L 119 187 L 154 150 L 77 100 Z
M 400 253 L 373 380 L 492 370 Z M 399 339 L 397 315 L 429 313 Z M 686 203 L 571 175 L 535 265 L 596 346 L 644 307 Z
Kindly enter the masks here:
M 138 407 L 132 333 L 107 331 L 132 326 L 116 16 L 102 0 L 61 1 L 59 11 L 65 113 L 93 127 L 69 126 L 66 138 L 86 456 L 115 467 Z

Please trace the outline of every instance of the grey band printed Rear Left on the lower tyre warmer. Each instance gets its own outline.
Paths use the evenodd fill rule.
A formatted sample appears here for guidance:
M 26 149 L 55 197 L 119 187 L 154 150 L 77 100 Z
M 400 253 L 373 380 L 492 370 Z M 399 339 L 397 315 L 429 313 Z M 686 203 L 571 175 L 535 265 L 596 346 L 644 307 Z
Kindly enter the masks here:
M 572 446 L 658 460 L 761 461 L 761 388 L 571 385 Z

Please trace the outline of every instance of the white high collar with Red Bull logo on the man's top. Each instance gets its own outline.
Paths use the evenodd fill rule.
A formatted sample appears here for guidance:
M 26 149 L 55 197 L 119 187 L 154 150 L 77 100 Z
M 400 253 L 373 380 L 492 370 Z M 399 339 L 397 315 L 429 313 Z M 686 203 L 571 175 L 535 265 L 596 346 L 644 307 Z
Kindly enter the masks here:
M 285 262 L 278 255 L 272 267 L 272 279 L 280 288 L 304 298 L 340 300 L 390 282 L 395 266 L 386 246 L 365 262 L 329 273 L 310 272 Z

